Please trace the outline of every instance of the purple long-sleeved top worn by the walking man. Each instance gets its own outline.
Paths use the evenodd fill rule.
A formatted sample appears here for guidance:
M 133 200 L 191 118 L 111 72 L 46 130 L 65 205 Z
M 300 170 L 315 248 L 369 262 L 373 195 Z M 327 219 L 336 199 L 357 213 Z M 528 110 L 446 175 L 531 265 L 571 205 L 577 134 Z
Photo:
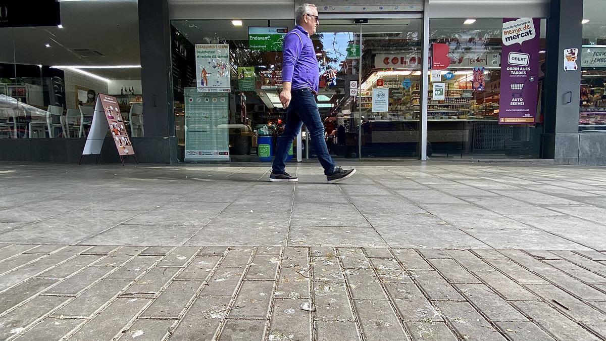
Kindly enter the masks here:
M 305 87 L 318 92 L 320 69 L 316 51 L 309 34 L 296 25 L 284 37 L 282 60 L 282 82 L 291 82 L 291 90 Z

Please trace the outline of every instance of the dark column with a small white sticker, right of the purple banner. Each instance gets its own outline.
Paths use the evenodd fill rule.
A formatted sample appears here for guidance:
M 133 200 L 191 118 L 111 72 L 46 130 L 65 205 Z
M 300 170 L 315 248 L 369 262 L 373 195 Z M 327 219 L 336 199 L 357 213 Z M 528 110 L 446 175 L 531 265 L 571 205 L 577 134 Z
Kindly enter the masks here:
M 556 164 L 579 163 L 579 96 L 581 58 L 576 71 L 564 71 L 564 50 L 581 52 L 583 2 L 551 0 L 547 22 L 545 134 L 542 156 Z

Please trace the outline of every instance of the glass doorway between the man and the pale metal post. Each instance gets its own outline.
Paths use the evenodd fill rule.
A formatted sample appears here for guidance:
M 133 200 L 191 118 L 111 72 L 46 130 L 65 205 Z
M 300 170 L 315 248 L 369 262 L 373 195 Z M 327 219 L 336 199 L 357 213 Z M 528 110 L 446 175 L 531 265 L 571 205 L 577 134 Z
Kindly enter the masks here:
M 416 18 L 321 18 L 317 102 L 334 158 L 418 158 L 421 29 Z

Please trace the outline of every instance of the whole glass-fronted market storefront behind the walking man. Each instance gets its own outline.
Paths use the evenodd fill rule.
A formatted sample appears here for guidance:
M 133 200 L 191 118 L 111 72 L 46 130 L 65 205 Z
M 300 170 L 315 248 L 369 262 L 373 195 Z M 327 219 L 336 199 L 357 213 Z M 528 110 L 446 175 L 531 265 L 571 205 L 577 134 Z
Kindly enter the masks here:
M 584 1 L 586 9 L 591 1 Z M 278 98 L 281 42 L 293 29 L 300 2 L 139 4 L 139 18 L 146 19 L 139 24 L 142 93 L 128 87 L 124 95 L 129 112 L 133 101 L 146 99 L 128 122 L 134 127 L 133 145 L 144 154 L 139 158 L 270 160 L 285 124 Z M 585 18 L 578 2 L 332 0 L 316 5 L 320 25 L 312 40 L 321 70 L 316 100 L 334 158 L 579 161 L 578 154 L 567 154 L 575 137 L 559 113 L 574 109 L 570 103 L 564 111 L 550 104 L 568 92 L 552 86 L 564 84 L 554 81 L 563 71 L 547 72 L 550 65 L 563 67 L 565 34 L 555 27 L 563 25 L 560 12 L 576 6 L 572 12 Z M 576 22 L 573 16 L 564 19 Z M 582 44 L 579 34 L 578 44 L 571 45 L 580 50 L 583 71 L 577 144 L 578 131 L 603 130 L 606 117 L 601 21 L 591 18 Z M 575 29 L 581 30 L 580 22 Z M 306 137 L 303 130 L 293 160 L 315 157 Z M 159 152 L 151 157 L 154 150 Z M 12 159 L 10 153 L 0 155 Z

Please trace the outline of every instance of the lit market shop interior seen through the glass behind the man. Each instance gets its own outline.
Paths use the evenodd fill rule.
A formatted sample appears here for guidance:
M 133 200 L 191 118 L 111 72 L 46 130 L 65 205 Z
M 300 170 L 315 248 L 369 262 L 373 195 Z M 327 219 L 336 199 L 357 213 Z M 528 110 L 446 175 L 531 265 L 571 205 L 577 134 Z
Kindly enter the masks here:
M 231 161 L 258 160 L 258 137 L 273 141 L 284 127 L 279 103 L 281 52 L 250 49 L 248 27 L 285 27 L 290 20 L 172 21 L 173 83 L 179 145 L 184 147 L 184 89 L 196 82 L 195 44 L 230 46 L 229 144 Z M 322 20 L 312 36 L 321 73 L 316 96 L 325 122 L 325 138 L 335 158 L 418 158 L 421 116 L 421 19 Z M 541 27 L 544 68 L 545 25 Z M 498 122 L 502 19 L 431 19 L 430 42 L 450 46 L 451 66 L 441 71 L 444 100 L 428 91 L 428 156 L 435 158 L 539 157 L 542 132 L 539 79 L 537 122 Z M 362 37 L 360 39 L 360 37 Z M 361 44 L 360 44 L 361 40 Z M 361 46 L 361 47 L 360 47 Z M 238 67 L 255 68 L 254 89 L 239 89 Z M 481 68 L 481 69 L 478 69 Z M 474 87 L 474 70 L 484 83 Z M 477 77 L 476 77 L 477 78 Z M 351 81 L 359 84 L 351 89 Z M 388 89 L 388 109 L 373 111 L 373 89 Z M 302 133 L 303 157 L 314 157 Z M 275 142 L 274 142 L 275 143 Z

